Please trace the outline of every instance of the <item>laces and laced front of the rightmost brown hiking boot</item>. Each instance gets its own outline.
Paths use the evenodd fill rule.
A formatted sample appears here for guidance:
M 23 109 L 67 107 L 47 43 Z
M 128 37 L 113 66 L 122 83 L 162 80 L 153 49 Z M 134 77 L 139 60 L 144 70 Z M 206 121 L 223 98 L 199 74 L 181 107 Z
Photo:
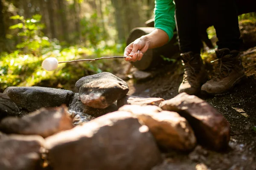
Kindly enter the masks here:
M 227 77 L 230 74 L 230 71 L 234 67 L 234 61 L 233 55 L 227 54 L 225 56 L 221 56 L 221 58 L 215 59 L 211 62 L 218 61 L 218 64 L 216 65 L 216 71 L 214 75 L 212 76 L 213 80 L 218 80 L 224 77 Z M 240 64 L 241 61 L 239 60 Z

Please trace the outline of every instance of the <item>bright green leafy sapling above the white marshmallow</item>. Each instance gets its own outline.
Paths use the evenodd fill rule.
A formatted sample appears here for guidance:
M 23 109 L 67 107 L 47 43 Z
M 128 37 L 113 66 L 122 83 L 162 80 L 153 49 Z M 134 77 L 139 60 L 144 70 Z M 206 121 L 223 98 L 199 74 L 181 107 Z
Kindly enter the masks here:
M 41 55 L 41 49 L 49 47 L 51 44 L 48 37 L 44 37 L 42 29 L 45 27 L 41 22 L 41 15 L 35 14 L 32 18 L 24 19 L 23 16 L 15 15 L 10 17 L 12 20 L 19 20 L 9 29 L 19 29 L 17 36 L 21 37 L 21 42 L 16 45 L 16 48 L 23 49 L 26 54 Z M 8 34 L 6 38 L 13 38 Z

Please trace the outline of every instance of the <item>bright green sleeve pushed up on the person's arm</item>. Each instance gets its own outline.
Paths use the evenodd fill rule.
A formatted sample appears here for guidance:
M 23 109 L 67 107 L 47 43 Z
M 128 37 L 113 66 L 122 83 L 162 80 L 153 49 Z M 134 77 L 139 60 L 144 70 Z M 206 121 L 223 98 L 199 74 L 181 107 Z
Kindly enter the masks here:
M 155 0 L 154 27 L 162 29 L 172 40 L 175 29 L 175 4 L 173 0 Z

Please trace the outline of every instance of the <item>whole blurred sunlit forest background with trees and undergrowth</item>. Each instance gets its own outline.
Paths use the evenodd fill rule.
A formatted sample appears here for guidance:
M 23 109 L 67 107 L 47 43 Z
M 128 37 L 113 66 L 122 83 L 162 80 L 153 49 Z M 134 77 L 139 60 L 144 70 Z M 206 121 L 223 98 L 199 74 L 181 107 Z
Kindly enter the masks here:
M 129 32 L 145 26 L 153 10 L 154 0 L 0 0 L 0 92 L 17 85 L 72 89 L 83 76 L 112 71 L 116 60 L 61 64 L 52 72 L 41 63 L 122 55 Z

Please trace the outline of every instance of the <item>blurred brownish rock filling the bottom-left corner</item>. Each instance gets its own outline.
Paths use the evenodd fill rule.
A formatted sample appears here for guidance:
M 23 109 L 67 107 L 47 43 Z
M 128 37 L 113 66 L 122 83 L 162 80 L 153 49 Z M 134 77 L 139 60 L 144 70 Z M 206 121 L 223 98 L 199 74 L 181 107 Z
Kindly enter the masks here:
M 40 169 L 41 136 L 6 136 L 0 139 L 0 148 L 0 170 Z

